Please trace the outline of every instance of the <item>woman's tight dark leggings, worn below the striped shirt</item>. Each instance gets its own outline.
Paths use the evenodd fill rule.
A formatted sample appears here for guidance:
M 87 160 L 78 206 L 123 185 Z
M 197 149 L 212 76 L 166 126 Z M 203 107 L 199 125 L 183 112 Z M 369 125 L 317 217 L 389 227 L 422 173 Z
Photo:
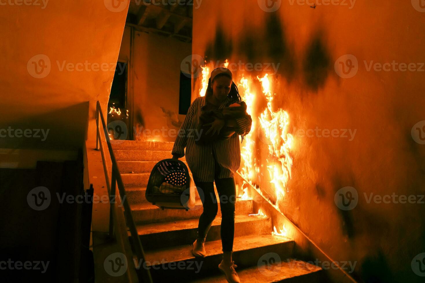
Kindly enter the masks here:
M 221 246 L 223 247 L 223 252 L 232 252 L 233 238 L 235 235 L 235 179 L 218 179 L 218 174 L 220 174 L 220 167 L 217 163 L 217 160 L 215 160 L 214 168 L 214 181 L 220 199 L 221 210 Z M 201 189 L 204 192 L 204 200 L 202 200 L 204 211 L 199 217 L 198 239 L 199 241 L 205 241 L 212 221 L 215 219 L 215 216 L 218 212 L 217 197 L 215 196 L 213 182 L 195 181 L 195 185 L 198 187 L 198 190 Z M 202 196 L 202 193 L 200 193 L 200 195 Z

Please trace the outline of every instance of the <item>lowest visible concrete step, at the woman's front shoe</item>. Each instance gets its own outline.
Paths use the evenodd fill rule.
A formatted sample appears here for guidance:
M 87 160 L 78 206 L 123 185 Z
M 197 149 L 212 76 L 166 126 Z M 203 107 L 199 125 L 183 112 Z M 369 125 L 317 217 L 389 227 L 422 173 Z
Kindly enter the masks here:
M 266 266 L 265 263 L 268 263 Z M 304 261 L 295 259 L 283 259 L 279 262 L 264 262 L 245 269 L 236 268 L 241 282 L 249 283 L 320 283 L 323 282 L 323 271 L 320 267 Z M 223 273 L 217 271 L 217 274 L 210 277 L 204 277 L 200 280 L 188 281 L 190 283 L 227 283 Z

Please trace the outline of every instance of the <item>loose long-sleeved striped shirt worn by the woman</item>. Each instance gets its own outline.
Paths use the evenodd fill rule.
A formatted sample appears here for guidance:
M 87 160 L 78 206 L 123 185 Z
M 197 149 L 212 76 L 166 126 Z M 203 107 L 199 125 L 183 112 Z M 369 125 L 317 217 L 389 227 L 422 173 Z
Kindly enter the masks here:
M 227 140 L 216 140 L 207 145 L 198 146 L 195 139 L 199 137 L 197 126 L 202 107 L 207 103 L 207 96 L 196 98 L 189 107 L 187 115 L 181 124 L 181 129 L 174 142 L 172 154 L 179 158 L 184 156 L 186 148 L 186 161 L 192 172 L 193 179 L 197 182 L 214 181 L 214 157 L 220 165 L 219 179 L 232 178 L 241 165 L 241 149 L 239 146 L 239 135 L 245 136 L 251 130 L 252 119 L 246 114 L 243 118 L 235 119 L 239 128 Z M 235 101 L 226 98 L 218 107 L 222 109 Z

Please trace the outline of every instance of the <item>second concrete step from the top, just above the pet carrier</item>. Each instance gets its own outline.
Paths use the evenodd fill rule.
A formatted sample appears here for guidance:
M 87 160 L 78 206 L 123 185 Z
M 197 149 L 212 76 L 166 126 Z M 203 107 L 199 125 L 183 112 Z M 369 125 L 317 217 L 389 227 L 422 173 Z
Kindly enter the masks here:
M 171 151 L 159 150 L 114 150 L 117 161 L 161 161 L 163 159 L 172 158 Z M 186 158 L 180 158 L 186 161 Z

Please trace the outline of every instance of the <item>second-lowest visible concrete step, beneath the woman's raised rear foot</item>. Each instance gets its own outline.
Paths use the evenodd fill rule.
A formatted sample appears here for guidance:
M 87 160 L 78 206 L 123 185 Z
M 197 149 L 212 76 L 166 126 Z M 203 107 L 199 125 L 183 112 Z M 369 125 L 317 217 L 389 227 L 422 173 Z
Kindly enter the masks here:
M 249 235 L 235 237 L 232 259 L 238 269 L 257 266 L 263 258 L 277 253 L 280 257 L 290 258 L 294 241 L 276 235 Z M 216 274 L 222 259 L 221 240 L 205 243 L 207 256 L 195 258 L 192 255 L 192 244 L 164 248 L 145 252 L 145 266 L 149 268 L 154 282 L 187 282 L 201 277 Z M 273 254 L 269 254 L 273 253 Z M 250 282 L 250 281 L 248 281 Z

